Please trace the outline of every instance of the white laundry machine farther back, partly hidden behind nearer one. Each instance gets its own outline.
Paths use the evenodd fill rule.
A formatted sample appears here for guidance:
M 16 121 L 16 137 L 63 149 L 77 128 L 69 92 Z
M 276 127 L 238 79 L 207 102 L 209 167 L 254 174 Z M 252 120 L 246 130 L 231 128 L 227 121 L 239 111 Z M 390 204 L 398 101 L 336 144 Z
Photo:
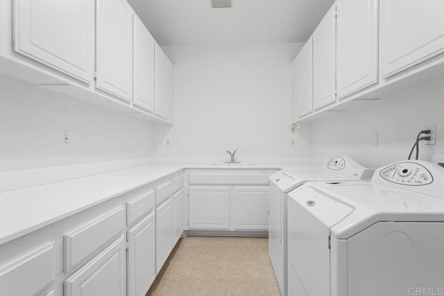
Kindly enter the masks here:
M 310 181 L 370 180 L 374 171 L 348 157 L 333 157 L 324 166 L 302 165 L 271 175 L 268 254 L 282 295 L 287 295 L 287 193 Z

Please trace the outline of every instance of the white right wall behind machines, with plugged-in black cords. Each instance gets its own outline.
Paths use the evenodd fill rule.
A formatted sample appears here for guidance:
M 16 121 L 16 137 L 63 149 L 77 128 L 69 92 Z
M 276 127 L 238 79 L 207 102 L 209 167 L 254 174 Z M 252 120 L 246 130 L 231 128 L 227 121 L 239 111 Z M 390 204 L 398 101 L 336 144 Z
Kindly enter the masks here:
M 350 155 L 364 166 L 379 167 L 407 159 L 416 135 L 436 125 L 435 146 L 420 145 L 420 159 L 444 155 L 444 79 L 407 89 L 382 101 L 360 102 L 346 112 L 305 123 L 312 133 L 314 157 Z M 379 146 L 372 146 L 372 132 Z

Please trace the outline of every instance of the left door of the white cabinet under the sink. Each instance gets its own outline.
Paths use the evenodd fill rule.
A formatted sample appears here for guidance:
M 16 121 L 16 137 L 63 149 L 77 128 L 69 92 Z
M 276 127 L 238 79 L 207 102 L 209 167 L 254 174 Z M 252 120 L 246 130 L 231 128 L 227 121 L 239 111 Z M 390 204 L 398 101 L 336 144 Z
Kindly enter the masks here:
M 189 187 L 189 229 L 230 229 L 230 187 Z

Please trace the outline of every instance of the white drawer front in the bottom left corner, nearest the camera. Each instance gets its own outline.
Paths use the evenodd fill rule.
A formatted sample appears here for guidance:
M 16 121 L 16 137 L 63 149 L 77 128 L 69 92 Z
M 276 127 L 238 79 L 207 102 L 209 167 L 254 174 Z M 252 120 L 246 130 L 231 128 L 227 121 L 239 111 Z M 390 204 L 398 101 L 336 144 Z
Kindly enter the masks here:
M 35 295 L 54 280 L 54 243 L 0 267 L 0 295 Z

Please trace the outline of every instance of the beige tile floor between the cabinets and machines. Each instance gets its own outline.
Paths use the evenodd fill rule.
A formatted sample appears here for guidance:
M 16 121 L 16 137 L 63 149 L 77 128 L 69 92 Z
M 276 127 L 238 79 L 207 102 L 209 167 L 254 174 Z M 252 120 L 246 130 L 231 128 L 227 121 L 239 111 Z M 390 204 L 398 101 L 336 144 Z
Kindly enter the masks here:
M 267 238 L 181 238 L 148 291 L 153 296 L 280 296 Z

